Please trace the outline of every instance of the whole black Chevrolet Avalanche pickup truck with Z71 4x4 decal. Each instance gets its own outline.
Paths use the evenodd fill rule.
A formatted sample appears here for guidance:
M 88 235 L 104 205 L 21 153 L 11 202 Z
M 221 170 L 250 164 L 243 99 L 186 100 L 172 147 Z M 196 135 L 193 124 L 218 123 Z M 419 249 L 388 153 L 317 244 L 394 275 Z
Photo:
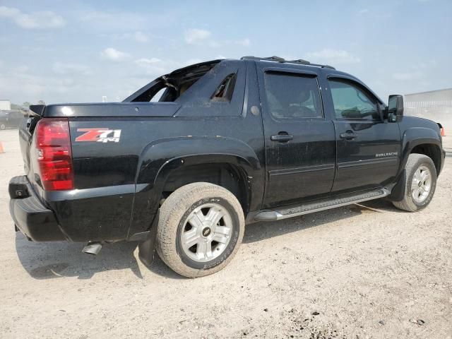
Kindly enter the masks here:
M 156 99 L 157 98 L 157 99 Z M 36 242 L 139 242 L 186 277 L 215 273 L 244 225 L 386 197 L 432 200 L 439 126 L 403 117 L 333 67 L 278 57 L 178 69 L 119 103 L 35 105 L 9 184 L 16 231 Z

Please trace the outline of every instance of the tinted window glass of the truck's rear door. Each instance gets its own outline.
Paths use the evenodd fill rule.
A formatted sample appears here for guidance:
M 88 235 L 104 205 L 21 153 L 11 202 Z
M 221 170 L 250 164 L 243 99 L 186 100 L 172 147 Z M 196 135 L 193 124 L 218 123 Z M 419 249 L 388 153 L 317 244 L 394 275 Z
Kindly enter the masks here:
M 266 97 L 273 117 L 322 118 L 319 84 L 315 77 L 296 73 L 266 73 Z

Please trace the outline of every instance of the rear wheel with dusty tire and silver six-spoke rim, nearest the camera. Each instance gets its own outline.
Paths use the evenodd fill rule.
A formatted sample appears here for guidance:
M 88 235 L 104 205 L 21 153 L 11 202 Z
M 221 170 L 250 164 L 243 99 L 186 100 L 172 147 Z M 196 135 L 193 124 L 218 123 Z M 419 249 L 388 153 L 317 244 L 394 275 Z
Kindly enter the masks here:
M 244 227 L 242 206 L 234 194 L 206 182 L 188 184 L 160 208 L 157 253 L 184 277 L 210 275 L 230 263 L 242 244 Z

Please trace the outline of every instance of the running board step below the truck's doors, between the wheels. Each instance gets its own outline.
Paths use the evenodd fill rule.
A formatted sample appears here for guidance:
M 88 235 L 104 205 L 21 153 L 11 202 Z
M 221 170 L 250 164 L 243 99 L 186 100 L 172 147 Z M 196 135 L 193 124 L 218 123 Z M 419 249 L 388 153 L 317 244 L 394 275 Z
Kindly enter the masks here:
M 256 214 L 254 220 L 256 221 L 275 221 L 297 217 L 308 213 L 319 212 L 321 210 L 329 210 L 340 206 L 350 205 L 352 203 L 360 203 L 378 198 L 383 198 L 391 194 L 388 189 L 376 189 L 374 191 L 365 191 L 359 194 L 343 194 L 335 198 L 327 198 L 318 201 L 310 201 L 302 205 L 289 205 L 275 210 L 263 210 Z

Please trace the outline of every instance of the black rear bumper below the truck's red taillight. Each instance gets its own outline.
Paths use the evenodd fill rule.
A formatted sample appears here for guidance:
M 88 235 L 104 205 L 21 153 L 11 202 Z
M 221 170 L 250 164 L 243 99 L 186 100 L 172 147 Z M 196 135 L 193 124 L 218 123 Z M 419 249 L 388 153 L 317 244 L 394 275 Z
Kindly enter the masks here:
M 13 177 L 8 191 L 9 211 L 20 232 L 35 242 L 66 240 L 54 213 L 36 196 L 27 177 Z

